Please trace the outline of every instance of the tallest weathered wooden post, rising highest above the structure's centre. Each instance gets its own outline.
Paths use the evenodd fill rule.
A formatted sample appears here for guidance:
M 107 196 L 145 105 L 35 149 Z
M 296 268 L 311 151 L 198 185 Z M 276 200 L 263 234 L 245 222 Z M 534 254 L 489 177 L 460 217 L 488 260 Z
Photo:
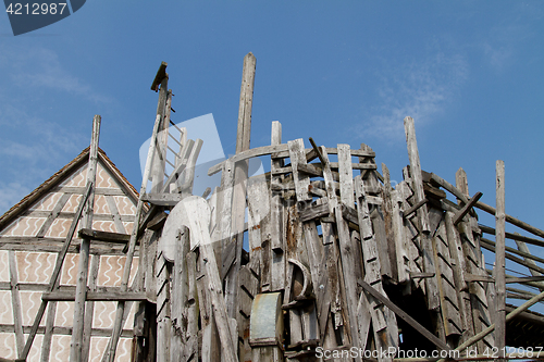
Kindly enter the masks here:
M 238 133 L 236 135 L 236 153 L 249 150 L 256 62 L 257 60 L 252 53 L 248 53 L 244 58 L 238 109 Z M 231 319 L 235 319 L 237 312 L 238 269 L 240 266 L 242 248 L 244 246 L 247 173 L 248 161 L 237 162 L 234 167 L 233 219 L 231 228 L 236 238 L 236 257 L 225 278 L 225 302 Z

